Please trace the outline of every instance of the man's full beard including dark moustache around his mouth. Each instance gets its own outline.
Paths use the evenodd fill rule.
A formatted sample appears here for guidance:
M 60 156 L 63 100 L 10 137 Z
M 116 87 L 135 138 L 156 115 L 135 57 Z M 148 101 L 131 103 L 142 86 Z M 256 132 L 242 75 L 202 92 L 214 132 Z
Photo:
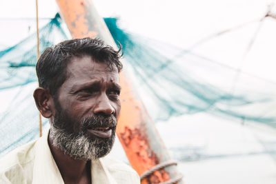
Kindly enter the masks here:
M 114 115 L 95 115 L 72 122 L 70 116 L 63 110 L 52 118 L 50 136 L 53 145 L 58 147 L 71 158 L 81 160 L 95 160 L 108 154 L 115 142 L 117 119 Z M 109 138 L 89 136 L 86 132 L 90 127 L 112 127 Z

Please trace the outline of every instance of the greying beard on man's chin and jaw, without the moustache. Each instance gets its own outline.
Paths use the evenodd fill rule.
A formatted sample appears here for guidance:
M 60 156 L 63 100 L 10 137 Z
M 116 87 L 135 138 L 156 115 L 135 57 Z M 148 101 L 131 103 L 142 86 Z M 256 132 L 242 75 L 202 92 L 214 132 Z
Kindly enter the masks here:
M 50 136 L 55 147 L 71 158 L 81 160 L 95 160 L 106 156 L 115 142 L 115 130 L 112 130 L 109 139 L 91 139 L 84 132 L 70 133 L 65 128 L 58 127 L 55 122 L 50 127 Z

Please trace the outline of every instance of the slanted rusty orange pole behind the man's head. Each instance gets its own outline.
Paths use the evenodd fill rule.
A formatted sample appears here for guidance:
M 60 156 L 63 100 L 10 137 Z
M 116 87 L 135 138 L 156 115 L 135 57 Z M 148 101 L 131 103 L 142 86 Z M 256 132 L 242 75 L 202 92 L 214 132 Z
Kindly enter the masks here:
M 72 38 L 99 37 L 106 44 L 117 48 L 106 24 L 90 0 L 56 0 L 61 17 L 66 22 Z M 139 99 L 126 70 L 120 73 L 122 91 L 121 114 L 117 136 L 124 147 L 132 167 L 141 176 L 155 165 L 166 163 L 170 156 L 154 123 Z M 163 183 L 179 175 L 175 165 L 156 170 L 141 183 Z M 182 183 L 179 181 L 178 183 Z

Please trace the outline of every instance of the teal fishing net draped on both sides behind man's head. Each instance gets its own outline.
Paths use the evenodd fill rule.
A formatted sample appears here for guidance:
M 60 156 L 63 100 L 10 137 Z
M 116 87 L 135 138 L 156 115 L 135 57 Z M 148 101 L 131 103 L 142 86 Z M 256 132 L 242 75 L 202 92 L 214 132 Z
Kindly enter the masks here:
M 275 127 L 276 115 L 271 110 L 275 83 L 238 73 L 191 50 L 124 32 L 115 18 L 104 20 L 112 37 L 121 43 L 124 68 L 155 121 L 206 112 Z M 68 39 L 61 23 L 57 14 L 39 30 L 41 52 Z M 0 52 L 0 93 L 7 96 L 0 114 L 0 155 L 39 136 L 39 112 L 32 98 L 37 87 L 36 44 L 36 34 L 32 34 Z M 239 81 L 234 88 L 233 77 L 237 74 Z M 43 126 L 46 124 L 43 119 Z

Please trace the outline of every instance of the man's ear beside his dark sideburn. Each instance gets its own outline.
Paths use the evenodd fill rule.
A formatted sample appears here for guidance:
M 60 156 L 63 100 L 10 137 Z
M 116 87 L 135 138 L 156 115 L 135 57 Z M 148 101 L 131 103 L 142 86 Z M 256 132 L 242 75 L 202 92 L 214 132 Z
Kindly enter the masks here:
M 47 119 L 55 116 L 55 105 L 52 95 L 44 88 L 34 90 L 34 101 L 41 115 Z

